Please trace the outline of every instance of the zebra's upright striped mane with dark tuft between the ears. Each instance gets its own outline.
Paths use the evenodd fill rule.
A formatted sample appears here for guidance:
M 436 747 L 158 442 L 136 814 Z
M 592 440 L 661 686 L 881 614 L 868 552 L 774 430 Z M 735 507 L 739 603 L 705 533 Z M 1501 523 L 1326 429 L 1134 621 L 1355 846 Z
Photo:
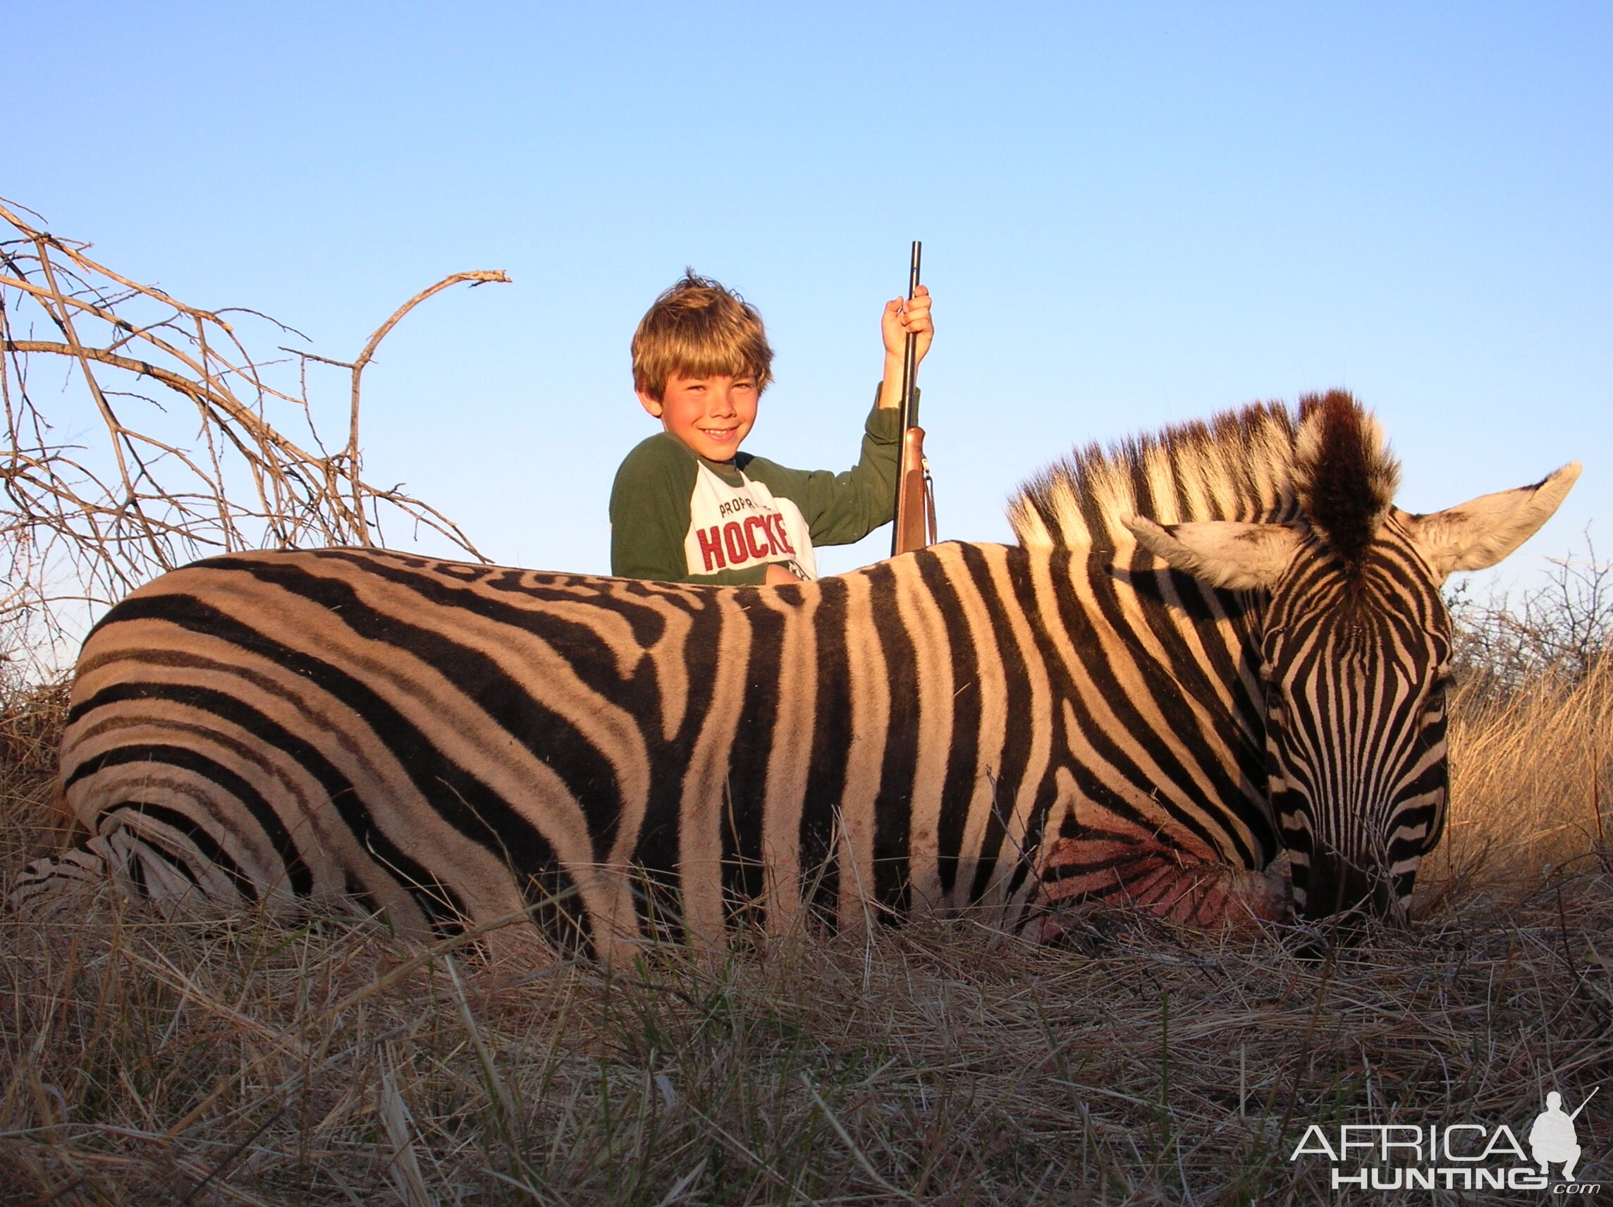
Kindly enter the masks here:
M 1253 402 L 1208 421 L 1090 444 L 1019 487 L 1008 521 L 1026 549 L 1127 549 L 1124 515 L 1158 524 L 1308 520 L 1355 563 L 1394 502 L 1400 465 L 1347 392 L 1307 394 L 1295 415 Z

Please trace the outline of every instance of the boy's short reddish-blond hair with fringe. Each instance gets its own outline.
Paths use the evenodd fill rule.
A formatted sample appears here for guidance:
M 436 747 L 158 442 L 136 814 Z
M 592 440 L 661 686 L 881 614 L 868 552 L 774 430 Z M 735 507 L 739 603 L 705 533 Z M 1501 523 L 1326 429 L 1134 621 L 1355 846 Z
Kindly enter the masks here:
M 673 374 L 753 376 L 756 390 L 773 381 L 773 349 L 761 315 L 732 289 L 686 269 L 655 299 L 632 332 L 632 387 L 660 400 Z

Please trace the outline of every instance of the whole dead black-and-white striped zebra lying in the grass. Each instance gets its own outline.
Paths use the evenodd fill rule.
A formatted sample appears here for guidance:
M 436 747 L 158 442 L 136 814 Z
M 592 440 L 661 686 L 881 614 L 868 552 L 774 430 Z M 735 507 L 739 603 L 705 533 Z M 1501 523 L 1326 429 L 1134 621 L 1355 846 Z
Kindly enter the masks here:
M 526 912 L 606 962 L 745 920 L 1403 918 L 1445 812 L 1440 584 L 1578 473 L 1402 512 L 1336 390 L 1076 452 L 1011 500 L 1018 545 L 792 586 L 210 557 L 87 637 L 60 799 L 89 839 L 15 897 L 110 871 L 419 938 Z

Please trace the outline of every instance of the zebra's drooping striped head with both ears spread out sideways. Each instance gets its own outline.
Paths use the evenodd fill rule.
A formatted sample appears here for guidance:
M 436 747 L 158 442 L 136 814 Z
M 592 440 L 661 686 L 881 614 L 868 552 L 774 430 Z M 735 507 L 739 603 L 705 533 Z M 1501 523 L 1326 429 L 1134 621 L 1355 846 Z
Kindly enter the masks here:
M 1300 410 L 1286 523 L 1126 516 L 1173 568 L 1268 595 L 1258 634 L 1268 791 L 1302 917 L 1405 917 L 1445 816 L 1440 584 L 1511 553 L 1578 476 L 1573 463 L 1434 515 L 1402 512 L 1378 424 L 1334 392 Z

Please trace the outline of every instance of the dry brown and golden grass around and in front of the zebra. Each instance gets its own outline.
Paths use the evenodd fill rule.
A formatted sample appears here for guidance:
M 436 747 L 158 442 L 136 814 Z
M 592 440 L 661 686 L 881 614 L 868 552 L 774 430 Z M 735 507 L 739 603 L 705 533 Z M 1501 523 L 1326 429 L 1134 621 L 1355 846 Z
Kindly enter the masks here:
M 1061 950 L 926 921 L 611 978 L 363 920 L 5 917 L 0 1202 L 1332 1201 L 1289 1160 L 1310 1123 L 1521 1136 L 1613 1071 L 1605 702 L 1469 700 L 1421 920 L 1326 958 L 1094 913 Z M 11 713 L 8 868 L 55 841 L 60 700 Z M 1592 1181 L 1608 1118 L 1579 1118 Z

